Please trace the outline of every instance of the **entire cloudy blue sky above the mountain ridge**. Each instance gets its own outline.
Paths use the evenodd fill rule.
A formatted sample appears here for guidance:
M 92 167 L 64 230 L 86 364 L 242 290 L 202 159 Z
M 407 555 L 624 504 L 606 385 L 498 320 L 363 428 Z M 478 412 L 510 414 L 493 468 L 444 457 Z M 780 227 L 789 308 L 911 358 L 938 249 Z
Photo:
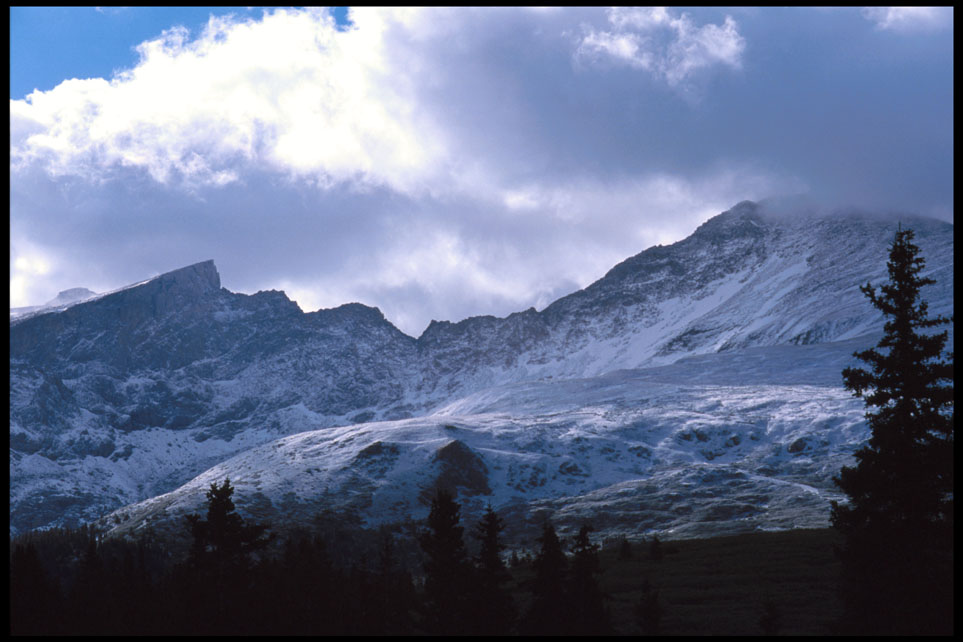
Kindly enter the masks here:
M 542 309 L 743 200 L 953 221 L 952 8 L 10 9 L 10 305 Z

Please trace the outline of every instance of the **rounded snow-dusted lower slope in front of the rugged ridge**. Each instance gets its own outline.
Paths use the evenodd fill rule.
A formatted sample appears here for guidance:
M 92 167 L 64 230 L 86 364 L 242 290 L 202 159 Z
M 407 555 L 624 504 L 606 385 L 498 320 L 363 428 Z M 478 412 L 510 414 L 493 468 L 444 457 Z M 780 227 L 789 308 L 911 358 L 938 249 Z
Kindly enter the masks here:
M 154 528 L 176 523 L 170 516 L 203 511 L 204 491 L 230 478 L 239 507 L 274 524 L 322 507 L 369 525 L 423 519 L 441 484 L 469 522 L 489 503 L 512 516 L 517 543 L 546 517 L 563 533 L 592 522 L 602 537 L 825 526 L 840 498 L 830 478 L 867 436 L 862 404 L 827 384 L 865 341 L 508 384 L 424 417 L 300 433 L 103 523 L 117 532 L 148 516 Z M 736 367 L 745 384 L 712 382 Z

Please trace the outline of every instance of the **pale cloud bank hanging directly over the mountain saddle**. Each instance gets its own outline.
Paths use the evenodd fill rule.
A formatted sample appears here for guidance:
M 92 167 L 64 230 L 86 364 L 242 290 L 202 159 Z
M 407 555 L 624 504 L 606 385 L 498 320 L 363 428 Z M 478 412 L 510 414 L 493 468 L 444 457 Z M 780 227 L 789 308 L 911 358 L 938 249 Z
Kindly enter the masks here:
M 685 238 L 740 200 L 804 189 L 795 179 L 738 163 L 691 179 L 658 173 L 523 185 L 491 193 L 483 208 L 495 219 L 490 229 L 482 220 L 455 225 L 443 216 L 396 217 L 377 253 L 266 287 L 284 289 L 304 310 L 349 301 L 377 305 L 418 336 L 431 319 L 542 308 L 629 256 Z

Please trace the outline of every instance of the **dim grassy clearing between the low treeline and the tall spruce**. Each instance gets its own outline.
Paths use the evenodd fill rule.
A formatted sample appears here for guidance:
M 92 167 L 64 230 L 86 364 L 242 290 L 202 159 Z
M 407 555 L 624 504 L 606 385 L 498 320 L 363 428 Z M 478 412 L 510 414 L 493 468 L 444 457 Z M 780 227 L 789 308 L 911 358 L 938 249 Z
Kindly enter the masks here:
M 600 585 L 615 633 L 639 633 L 634 610 L 643 580 L 659 592 L 665 635 L 759 635 L 767 600 L 780 615 L 781 635 L 829 635 L 839 616 L 839 562 L 832 529 L 753 533 L 662 542 L 661 560 L 648 543 L 632 557 L 602 551 Z M 516 602 L 527 606 L 527 565 L 514 570 Z

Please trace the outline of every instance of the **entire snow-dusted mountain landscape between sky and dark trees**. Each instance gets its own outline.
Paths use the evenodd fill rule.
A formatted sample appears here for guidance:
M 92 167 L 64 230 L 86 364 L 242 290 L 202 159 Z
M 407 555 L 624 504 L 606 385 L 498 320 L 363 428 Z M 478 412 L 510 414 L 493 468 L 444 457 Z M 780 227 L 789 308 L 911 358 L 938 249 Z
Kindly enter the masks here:
M 175 529 L 230 478 L 275 529 L 322 511 L 420 520 L 434 489 L 506 538 L 823 527 L 868 438 L 840 372 L 883 318 L 897 225 L 931 314 L 953 226 L 745 201 L 543 310 L 412 338 L 358 303 L 304 313 L 220 286 L 212 261 L 11 310 L 11 533 Z M 564 257 L 559 257 L 564 261 Z

